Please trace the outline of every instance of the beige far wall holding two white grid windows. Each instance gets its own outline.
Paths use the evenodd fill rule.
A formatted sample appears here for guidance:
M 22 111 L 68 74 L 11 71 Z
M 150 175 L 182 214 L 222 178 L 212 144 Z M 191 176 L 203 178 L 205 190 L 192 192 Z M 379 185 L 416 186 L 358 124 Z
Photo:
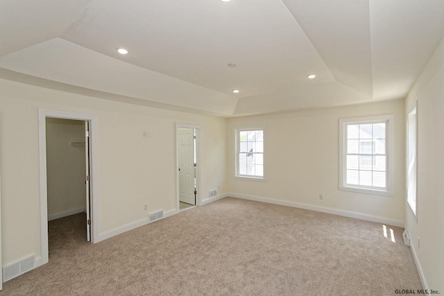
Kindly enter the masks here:
M 395 115 L 395 196 L 339 191 L 339 119 L 379 114 Z M 255 125 L 264 126 L 266 132 L 266 182 L 232 177 L 233 129 Z M 230 191 L 403 222 L 404 125 L 403 100 L 229 119 Z

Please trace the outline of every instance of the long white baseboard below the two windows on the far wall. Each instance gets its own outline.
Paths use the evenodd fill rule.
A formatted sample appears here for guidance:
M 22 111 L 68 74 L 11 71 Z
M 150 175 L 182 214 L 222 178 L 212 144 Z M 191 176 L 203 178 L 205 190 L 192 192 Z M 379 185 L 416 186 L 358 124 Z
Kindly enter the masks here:
M 227 196 L 232 196 L 233 198 L 241 198 L 244 200 L 255 200 L 257 202 L 267 202 L 269 204 L 280 204 L 287 207 L 297 207 L 300 209 L 309 209 L 311 211 L 321 211 L 323 213 L 327 214 L 334 214 L 339 216 L 345 216 L 349 218 L 357 218 L 361 220 L 376 222 L 376 223 L 382 223 L 386 225 L 392 225 L 397 227 L 404 228 L 404 222 L 400 220 L 394 220 L 391 218 L 384 218 L 379 216 L 373 216 L 369 214 L 363 214 L 356 211 L 346 211 L 341 209 L 334 209 L 330 207 L 320 207 L 315 206 L 311 204 L 302 204 L 300 202 L 289 202 L 286 200 L 273 200 L 271 198 L 263 198 L 259 196 L 253 196 L 253 195 L 244 195 L 244 194 L 238 194 L 238 193 L 228 193 Z

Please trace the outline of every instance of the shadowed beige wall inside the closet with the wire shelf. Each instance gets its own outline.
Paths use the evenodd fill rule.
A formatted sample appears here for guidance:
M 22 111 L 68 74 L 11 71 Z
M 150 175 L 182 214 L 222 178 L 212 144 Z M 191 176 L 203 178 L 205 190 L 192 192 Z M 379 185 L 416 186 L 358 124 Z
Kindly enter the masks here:
M 68 216 L 86 207 L 85 121 L 46 119 L 48 218 Z

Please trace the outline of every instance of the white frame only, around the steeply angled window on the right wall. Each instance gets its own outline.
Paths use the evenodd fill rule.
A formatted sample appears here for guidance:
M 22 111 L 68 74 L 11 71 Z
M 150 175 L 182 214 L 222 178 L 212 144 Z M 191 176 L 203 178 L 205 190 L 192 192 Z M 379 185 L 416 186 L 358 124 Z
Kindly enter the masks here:
M 409 164 L 409 153 L 410 153 L 410 130 L 409 130 L 409 123 L 410 123 L 410 114 L 411 112 L 413 112 L 413 110 L 416 110 L 416 122 L 415 122 L 415 141 L 414 141 L 414 145 L 415 145 L 415 157 L 416 157 L 416 162 L 415 162 L 415 179 L 413 180 L 415 182 L 415 191 L 413 191 L 413 194 L 415 195 L 415 201 L 413 203 L 413 201 L 411 199 L 409 199 L 409 181 L 410 181 L 410 176 L 409 176 L 409 171 L 410 171 L 410 164 Z M 409 109 L 409 113 L 407 114 L 407 155 L 406 155 L 406 159 L 407 159 L 407 164 L 406 164 L 406 192 L 407 192 L 407 204 L 409 204 L 409 207 L 411 209 L 411 211 L 413 212 L 413 215 L 416 216 L 416 218 L 418 218 L 418 101 L 415 101 L 415 103 L 413 103 L 413 105 L 411 105 L 410 109 Z

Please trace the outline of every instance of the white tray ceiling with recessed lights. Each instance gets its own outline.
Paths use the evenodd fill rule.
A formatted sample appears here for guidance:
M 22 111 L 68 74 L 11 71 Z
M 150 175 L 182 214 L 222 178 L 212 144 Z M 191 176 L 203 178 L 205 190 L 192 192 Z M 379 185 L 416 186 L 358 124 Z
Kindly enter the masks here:
M 3 0 L 0 14 L 4 69 L 221 116 L 402 98 L 444 35 L 442 0 Z

